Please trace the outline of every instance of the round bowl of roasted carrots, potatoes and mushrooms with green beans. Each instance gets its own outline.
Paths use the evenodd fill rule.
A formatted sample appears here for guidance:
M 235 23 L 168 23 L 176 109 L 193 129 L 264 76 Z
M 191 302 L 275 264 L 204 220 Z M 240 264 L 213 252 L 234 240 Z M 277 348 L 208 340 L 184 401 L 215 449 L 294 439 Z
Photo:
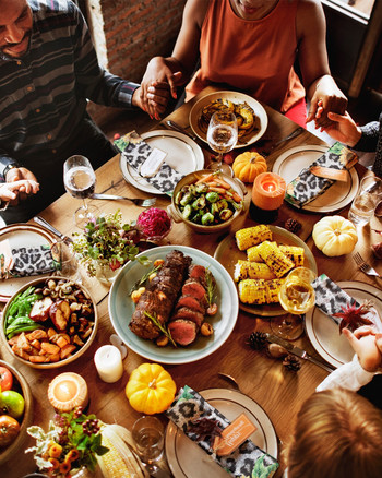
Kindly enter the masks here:
M 41 324 L 39 328 L 47 332 L 48 337 L 38 337 L 36 334 L 38 342 L 32 344 L 35 337 L 28 334 L 33 334 L 34 331 L 25 331 L 32 348 L 28 348 L 26 344 L 26 348 L 22 347 L 24 354 L 19 348 L 17 334 L 13 337 L 9 335 L 9 326 L 10 316 L 12 314 L 14 316 L 12 306 L 17 297 L 31 286 L 39 289 L 40 297 L 51 299 L 51 302 L 41 304 L 48 319 L 38 321 Z M 64 323 L 62 319 L 67 321 L 65 328 L 62 326 Z M 96 335 L 97 326 L 96 302 L 84 286 L 64 277 L 39 277 L 23 285 L 7 303 L 1 319 L 0 339 L 4 349 L 22 363 L 35 369 L 56 369 L 73 362 L 88 349 Z M 39 356 L 44 356 L 44 359 Z

